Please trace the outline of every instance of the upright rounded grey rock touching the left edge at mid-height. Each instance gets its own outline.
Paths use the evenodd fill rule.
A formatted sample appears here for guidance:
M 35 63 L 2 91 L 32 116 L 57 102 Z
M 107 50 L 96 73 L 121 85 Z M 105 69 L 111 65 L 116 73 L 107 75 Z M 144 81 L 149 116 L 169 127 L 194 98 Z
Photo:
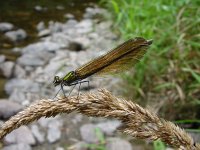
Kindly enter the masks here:
M 0 69 L 6 78 L 10 78 L 12 76 L 14 65 L 15 64 L 12 61 L 6 61 L 0 64 Z

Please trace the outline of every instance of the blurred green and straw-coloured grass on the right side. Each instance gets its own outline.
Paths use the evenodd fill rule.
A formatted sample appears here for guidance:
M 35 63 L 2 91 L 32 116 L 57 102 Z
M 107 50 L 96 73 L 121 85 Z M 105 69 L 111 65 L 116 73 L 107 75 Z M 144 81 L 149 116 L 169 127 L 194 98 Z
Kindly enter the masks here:
M 200 1 L 102 3 L 112 13 L 114 30 L 123 39 L 142 36 L 154 40 L 134 71 L 123 75 L 126 95 L 142 105 L 152 105 L 166 119 L 199 119 Z

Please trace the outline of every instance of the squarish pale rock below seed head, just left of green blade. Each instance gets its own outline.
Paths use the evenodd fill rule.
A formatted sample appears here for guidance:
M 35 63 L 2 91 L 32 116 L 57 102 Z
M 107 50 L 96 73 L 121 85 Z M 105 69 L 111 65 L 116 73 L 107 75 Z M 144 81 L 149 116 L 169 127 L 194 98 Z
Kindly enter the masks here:
M 96 126 L 94 124 L 84 124 L 80 127 L 80 134 L 83 141 L 87 143 L 97 143 L 99 141 L 96 135 Z

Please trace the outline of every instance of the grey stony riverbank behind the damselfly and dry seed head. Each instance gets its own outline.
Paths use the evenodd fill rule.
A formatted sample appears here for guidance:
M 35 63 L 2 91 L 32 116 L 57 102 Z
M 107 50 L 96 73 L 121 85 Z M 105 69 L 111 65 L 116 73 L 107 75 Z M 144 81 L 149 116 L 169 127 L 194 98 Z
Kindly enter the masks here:
M 9 97 L 0 101 L 1 122 L 35 100 L 54 97 L 60 88 L 53 87 L 55 75 L 63 76 L 119 43 L 119 38 L 111 30 L 113 23 L 95 17 L 105 14 L 108 12 L 104 9 L 89 7 L 80 21 L 71 14 L 65 23 L 50 21 L 46 25 L 41 21 L 37 25 L 37 42 L 12 49 L 20 53 L 20 56 L 16 62 L 6 59 L 1 62 L 2 71 L 9 78 L 5 85 Z M 82 92 L 107 88 L 117 93 L 115 87 L 120 81 L 113 77 L 91 77 L 89 80 L 90 89 L 87 85 L 82 85 Z M 69 90 L 70 88 L 65 88 L 66 92 Z M 77 94 L 77 89 L 73 94 Z M 87 149 L 92 145 L 98 147 L 101 140 L 98 134 L 101 133 L 107 141 L 105 147 L 110 150 L 116 149 L 116 146 L 118 150 L 120 147 L 131 150 L 132 145 L 128 139 L 114 134 L 119 125 L 120 122 L 116 120 L 88 118 L 80 114 L 42 118 L 7 135 L 2 145 L 3 150 L 63 150 L 69 147 Z

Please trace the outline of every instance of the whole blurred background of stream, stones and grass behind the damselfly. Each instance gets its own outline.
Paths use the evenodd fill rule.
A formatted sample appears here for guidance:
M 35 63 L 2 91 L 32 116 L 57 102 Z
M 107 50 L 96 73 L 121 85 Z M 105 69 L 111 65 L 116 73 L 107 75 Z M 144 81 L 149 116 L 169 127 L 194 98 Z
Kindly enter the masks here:
M 198 0 L 1 1 L 0 124 L 32 102 L 54 97 L 59 90 L 52 84 L 55 75 L 63 76 L 141 36 L 154 42 L 140 63 L 117 77 L 90 77 L 90 87 L 83 85 L 81 92 L 106 88 L 176 123 L 200 141 L 199 6 Z M 122 135 L 116 132 L 119 125 L 117 120 L 76 113 L 42 118 L 6 136 L 0 148 L 168 148 L 161 141 Z

